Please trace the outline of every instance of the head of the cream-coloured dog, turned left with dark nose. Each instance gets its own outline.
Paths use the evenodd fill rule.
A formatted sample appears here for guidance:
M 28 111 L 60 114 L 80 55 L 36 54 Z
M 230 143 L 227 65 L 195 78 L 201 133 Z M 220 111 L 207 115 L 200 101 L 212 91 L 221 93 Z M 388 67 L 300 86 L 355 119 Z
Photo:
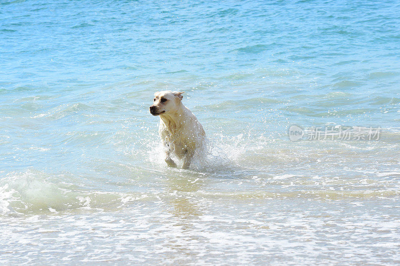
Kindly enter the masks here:
M 150 113 L 152 115 L 160 115 L 176 111 L 180 106 L 180 100 L 183 98 L 182 93 L 170 90 L 155 92 L 153 104 L 150 106 Z

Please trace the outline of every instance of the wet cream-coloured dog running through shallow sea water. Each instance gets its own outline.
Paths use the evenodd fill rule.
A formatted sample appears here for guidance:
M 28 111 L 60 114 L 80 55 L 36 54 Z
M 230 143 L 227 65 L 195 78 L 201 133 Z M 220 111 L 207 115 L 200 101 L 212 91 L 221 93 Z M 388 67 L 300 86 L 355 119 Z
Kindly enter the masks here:
M 205 132 L 196 116 L 183 105 L 183 92 L 157 91 L 149 109 L 152 115 L 160 118 L 158 134 L 164 147 L 166 164 L 176 167 L 171 158 L 174 154 L 183 159 L 182 168 L 187 169 L 195 151 L 203 144 Z

